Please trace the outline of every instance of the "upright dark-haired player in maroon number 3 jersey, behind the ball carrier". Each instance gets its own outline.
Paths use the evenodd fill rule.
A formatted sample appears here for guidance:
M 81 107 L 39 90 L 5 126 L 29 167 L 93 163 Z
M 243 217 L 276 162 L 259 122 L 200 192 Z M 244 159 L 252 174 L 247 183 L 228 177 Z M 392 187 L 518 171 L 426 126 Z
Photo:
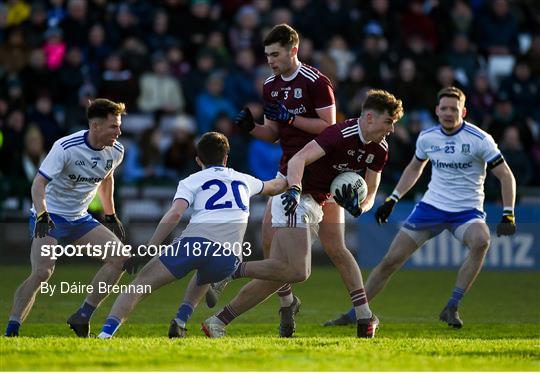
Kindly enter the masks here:
M 258 139 L 271 143 L 279 141 L 283 150 L 279 175 L 285 177 L 291 157 L 336 122 L 334 92 L 326 76 L 298 60 L 299 37 L 293 28 L 285 24 L 275 26 L 263 44 L 268 65 L 274 72 L 263 86 L 264 123 L 255 123 L 248 108 L 240 112 L 235 123 Z M 282 209 L 280 198 L 268 201 L 262 224 L 265 258 L 270 255 L 275 227 L 279 226 L 272 222 L 273 216 L 275 211 Z M 322 219 L 319 238 L 352 294 L 362 287 L 362 278 L 358 264 L 345 246 L 343 209 L 334 201 L 328 201 L 323 206 Z M 286 226 L 287 221 L 279 224 Z M 295 330 L 294 316 L 300 309 L 300 299 L 293 296 L 289 284 L 278 290 L 278 295 L 281 304 L 279 333 L 282 337 L 290 337 Z M 215 300 L 212 303 L 215 304 Z

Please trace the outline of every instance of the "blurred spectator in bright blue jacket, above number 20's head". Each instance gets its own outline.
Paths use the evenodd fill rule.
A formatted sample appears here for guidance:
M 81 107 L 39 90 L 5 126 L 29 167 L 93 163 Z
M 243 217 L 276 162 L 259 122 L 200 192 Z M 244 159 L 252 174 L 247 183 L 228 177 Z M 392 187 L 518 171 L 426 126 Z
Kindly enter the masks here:
M 231 118 L 237 114 L 233 103 L 223 94 L 223 79 L 222 72 L 213 72 L 206 80 L 206 89 L 197 96 L 196 117 L 199 134 L 210 131 L 222 112 Z

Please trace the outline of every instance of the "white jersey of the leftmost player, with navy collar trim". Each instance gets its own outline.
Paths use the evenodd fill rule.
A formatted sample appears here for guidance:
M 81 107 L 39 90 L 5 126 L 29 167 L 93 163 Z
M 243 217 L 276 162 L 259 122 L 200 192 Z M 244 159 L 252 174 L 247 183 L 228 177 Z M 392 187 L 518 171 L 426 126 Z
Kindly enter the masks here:
M 87 136 L 88 131 L 82 130 L 57 140 L 38 171 L 49 180 L 45 188 L 47 211 L 67 220 L 88 213 L 99 185 L 124 157 L 124 147 L 118 141 L 100 150 L 91 147 Z

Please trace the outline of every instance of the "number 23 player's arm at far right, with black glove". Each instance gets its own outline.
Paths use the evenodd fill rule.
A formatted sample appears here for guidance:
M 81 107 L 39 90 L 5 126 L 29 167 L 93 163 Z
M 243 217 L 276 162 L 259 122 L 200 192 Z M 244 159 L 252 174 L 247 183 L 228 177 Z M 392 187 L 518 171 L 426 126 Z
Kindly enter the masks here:
M 516 233 L 516 220 L 514 217 L 516 179 L 506 162 L 499 163 L 491 171 L 501 182 L 501 194 L 504 206 L 501 222 L 497 225 L 497 236 L 511 236 Z

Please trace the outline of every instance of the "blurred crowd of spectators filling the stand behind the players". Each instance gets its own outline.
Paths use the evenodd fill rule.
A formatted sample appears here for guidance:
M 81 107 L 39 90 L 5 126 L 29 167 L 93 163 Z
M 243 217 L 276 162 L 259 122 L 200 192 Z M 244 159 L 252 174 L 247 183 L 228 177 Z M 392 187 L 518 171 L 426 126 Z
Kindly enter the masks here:
M 197 169 L 194 140 L 209 130 L 228 136 L 232 167 L 271 178 L 279 145 L 233 120 L 246 105 L 262 120 L 271 75 L 262 38 L 279 23 L 300 33 L 300 61 L 331 79 L 338 120 L 360 114 L 369 88 L 403 100 L 384 184 L 436 124 L 437 91 L 454 85 L 518 185 L 540 185 L 540 2 L 9 0 L 0 3 L 0 195 L 28 195 L 54 141 L 87 127 L 95 97 L 129 112 L 121 183 L 176 183 Z

